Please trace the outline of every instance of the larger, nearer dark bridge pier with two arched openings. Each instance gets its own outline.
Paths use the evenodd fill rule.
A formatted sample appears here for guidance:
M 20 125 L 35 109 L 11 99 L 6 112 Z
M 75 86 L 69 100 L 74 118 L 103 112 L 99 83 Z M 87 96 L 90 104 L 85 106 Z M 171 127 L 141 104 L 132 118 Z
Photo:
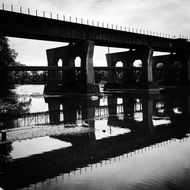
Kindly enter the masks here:
M 83 41 L 47 50 L 48 66 L 57 67 L 58 61 L 61 60 L 62 66 L 67 70 L 48 72 L 48 85 L 45 93 L 99 92 L 99 86 L 95 85 L 93 53 L 93 41 Z M 81 58 L 81 66 L 78 70 L 75 68 L 76 57 Z

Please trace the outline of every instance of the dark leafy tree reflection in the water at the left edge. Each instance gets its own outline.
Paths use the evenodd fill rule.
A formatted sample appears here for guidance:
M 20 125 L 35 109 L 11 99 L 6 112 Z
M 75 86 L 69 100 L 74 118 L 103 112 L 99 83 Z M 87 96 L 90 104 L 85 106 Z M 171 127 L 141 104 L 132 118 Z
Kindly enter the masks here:
M 0 100 L 0 126 L 14 127 L 14 120 L 18 115 L 28 113 L 30 104 L 31 98 L 21 102 L 15 94 L 2 98 Z

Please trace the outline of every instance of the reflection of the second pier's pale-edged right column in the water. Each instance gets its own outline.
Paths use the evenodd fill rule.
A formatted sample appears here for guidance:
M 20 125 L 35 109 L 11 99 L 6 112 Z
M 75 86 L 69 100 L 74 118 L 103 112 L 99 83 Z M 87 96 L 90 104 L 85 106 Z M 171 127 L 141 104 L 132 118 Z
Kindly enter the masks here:
M 152 133 L 154 131 L 152 116 L 153 116 L 153 100 L 152 99 L 143 99 L 142 101 L 143 109 L 143 130 L 146 132 Z

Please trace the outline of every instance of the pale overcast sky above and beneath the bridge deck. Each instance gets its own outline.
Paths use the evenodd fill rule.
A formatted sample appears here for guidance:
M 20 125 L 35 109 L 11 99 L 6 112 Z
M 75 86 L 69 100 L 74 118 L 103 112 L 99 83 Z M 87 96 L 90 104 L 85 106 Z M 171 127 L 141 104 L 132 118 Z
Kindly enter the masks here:
M 145 29 L 171 35 L 190 34 L 190 0 L 4 0 L 33 10 Z M 23 8 L 23 9 L 24 9 Z M 10 39 L 17 60 L 27 65 L 47 65 L 45 49 L 65 45 L 24 39 Z M 104 60 L 105 48 L 95 48 L 95 65 Z M 114 49 L 111 50 L 112 52 Z

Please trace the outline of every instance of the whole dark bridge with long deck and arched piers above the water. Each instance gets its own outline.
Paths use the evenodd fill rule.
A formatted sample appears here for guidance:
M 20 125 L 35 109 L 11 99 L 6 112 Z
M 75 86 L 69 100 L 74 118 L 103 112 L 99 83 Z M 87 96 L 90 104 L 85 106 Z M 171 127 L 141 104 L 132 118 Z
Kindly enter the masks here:
M 36 14 L 37 15 L 37 14 Z M 48 67 L 57 67 L 58 61 L 62 60 L 62 82 L 56 81 L 59 73 L 48 71 L 48 85 L 46 93 L 56 91 L 71 91 L 91 93 L 99 92 L 95 84 L 93 66 L 94 46 L 108 46 L 128 48 L 129 51 L 120 53 L 108 53 L 106 55 L 107 65 L 111 70 L 116 63 L 123 63 L 122 88 L 159 89 L 159 81 L 165 84 L 189 86 L 190 84 L 190 43 L 187 39 L 173 39 L 168 37 L 153 36 L 142 33 L 135 33 L 117 30 L 109 27 L 100 27 L 82 23 L 68 22 L 45 18 L 45 15 L 34 16 L 28 14 L 0 10 L 0 35 L 19 37 L 27 39 L 38 39 L 47 41 L 69 42 L 69 45 L 47 50 Z M 155 51 L 168 52 L 170 55 L 153 56 Z M 76 57 L 81 58 L 80 76 L 71 68 L 75 67 Z M 142 61 L 140 79 L 137 79 L 133 72 L 134 61 Z M 159 81 L 155 77 L 154 68 L 162 63 L 168 69 L 163 76 L 160 74 Z M 68 68 L 65 69 L 65 68 Z M 174 69 L 173 69 L 174 68 Z M 173 69 L 173 70 L 172 70 Z M 178 72 L 180 70 L 180 72 Z M 173 76 L 172 73 L 176 75 Z M 117 72 L 110 72 L 110 85 L 115 87 L 117 83 L 115 76 Z M 168 77 L 170 76 L 170 77 Z M 138 84 L 136 84 L 138 83 Z M 173 85 L 172 83 L 172 85 Z M 117 85 L 116 85 L 117 86 Z

